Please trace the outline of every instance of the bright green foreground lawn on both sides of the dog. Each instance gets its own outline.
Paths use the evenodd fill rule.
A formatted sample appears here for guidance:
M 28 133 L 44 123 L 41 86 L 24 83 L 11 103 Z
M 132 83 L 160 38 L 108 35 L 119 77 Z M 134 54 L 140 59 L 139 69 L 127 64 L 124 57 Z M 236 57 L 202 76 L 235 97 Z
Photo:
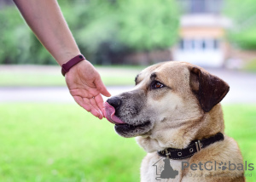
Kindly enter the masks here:
M 1 182 L 139 181 L 145 152 L 135 139 L 78 105 L 1 104 L 0 111 Z M 224 117 L 244 160 L 256 162 L 256 105 L 224 105 Z M 254 171 L 247 181 L 256 181 Z

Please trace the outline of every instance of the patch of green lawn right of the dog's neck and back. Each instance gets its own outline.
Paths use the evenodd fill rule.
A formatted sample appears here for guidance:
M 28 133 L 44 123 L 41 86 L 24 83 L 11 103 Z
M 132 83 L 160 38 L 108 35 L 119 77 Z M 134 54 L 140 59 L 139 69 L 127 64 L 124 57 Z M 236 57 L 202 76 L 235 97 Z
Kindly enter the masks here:
M 247 182 L 256 181 L 256 105 L 224 105 L 225 133 L 236 139 L 243 160 L 253 163 Z M 232 155 L 232 154 L 230 154 Z

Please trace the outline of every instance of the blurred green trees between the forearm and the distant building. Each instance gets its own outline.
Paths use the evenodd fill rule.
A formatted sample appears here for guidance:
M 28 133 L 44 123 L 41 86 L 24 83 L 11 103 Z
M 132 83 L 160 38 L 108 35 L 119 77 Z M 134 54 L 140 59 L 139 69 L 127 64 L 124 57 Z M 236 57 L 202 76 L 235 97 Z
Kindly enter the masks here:
M 174 0 L 94 0 L 77 9 L 83 21 L 76 24 L 74 36 L 97 63 L 117 63 L 125 54 L 169 48 L 177 39 Z

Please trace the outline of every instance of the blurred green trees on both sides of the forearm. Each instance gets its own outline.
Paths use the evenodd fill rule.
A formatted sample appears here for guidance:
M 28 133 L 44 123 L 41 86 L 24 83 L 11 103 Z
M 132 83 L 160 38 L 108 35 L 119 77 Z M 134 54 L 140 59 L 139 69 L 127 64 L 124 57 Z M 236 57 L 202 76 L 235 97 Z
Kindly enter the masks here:
M 92 63 L 120 63 L 126 54 L 169 48 L 177 39 L 175 0 L 59 3 L 81 52 Z M 15 7 L 0 10 L 0 23 L 0 63 L 55 63 Z

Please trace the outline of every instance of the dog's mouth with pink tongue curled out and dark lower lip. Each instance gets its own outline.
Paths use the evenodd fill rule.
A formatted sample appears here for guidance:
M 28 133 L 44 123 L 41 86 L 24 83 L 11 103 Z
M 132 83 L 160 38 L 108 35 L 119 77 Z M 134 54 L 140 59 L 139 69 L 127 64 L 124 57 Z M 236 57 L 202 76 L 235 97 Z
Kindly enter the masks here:
M 115 109 L 112 105 L 109 105 L 108 102 L 105 102 L 104 107 L 105 117 L 108 119 L 108 122 L 112 122 L 113 124 L 115 124 L 114 128 L 119 134 L 131 133 L 133 131 L 143 129 L 144 127 L 150 125 L 149 121 L 138 125 L 128 124 L 122 121 L 119 117 L 114 115 Z

